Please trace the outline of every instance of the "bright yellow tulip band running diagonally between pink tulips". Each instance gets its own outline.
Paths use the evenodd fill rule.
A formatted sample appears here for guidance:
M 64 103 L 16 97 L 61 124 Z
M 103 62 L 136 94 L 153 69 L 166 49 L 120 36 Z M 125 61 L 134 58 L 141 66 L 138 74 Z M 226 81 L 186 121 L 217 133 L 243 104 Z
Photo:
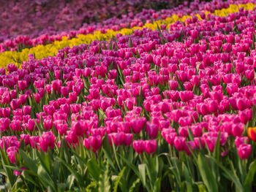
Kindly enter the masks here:
M 244 7 L 244 9 L 252 10 L 255 7 L 255 4 L 249 3 L 249 4 L 239 4 L 238 6 L 235 4 L 230 4 L 230 7 L 227 9 L 221 9 L 221 10 L 215 10 L 213 15 L 219 15 L 219 16 L 226 16 L 233 12 L 238 12 L 238 7 Z M 209 12 L 202 12 L 201 16 L 206 17 Z M 201 16 L 199 14 L 195 15 L 196 20 L 200 20 Z M 139 27 L 133 27 L 133 28 L 122 28 L 120 31 L 113 31 L 112 29 L 104 30 L 104 31 L 93 31 L 94 34 L 78 34 L 77 38 L 68 39 L 68 37 L 59 37 L 61 38 L 61 41 L 59 39 L 57 41 L 54 41 L 53 44 L 49 45 L 37 45 L 36 47 L 32 48 L 25 48 L 21 50 L 21 52 L 18 51 L 5 51 L 4 53 L 0 53 L 0 60 L 1 60 L 1 66 L 7 67 L 7 64 L 16 64 L 17 66 L 20 66 L 23 61 L 28 61 L 28 55 L 34 54 L 35 58 L 41 59 L 48 56 L 53 56 L 58 53 L 59 49 L 62 49 L 64 47 L 72 47 L 72 46 L 78 46 L 80 44 L 89 44 L 93 40 L 106 40 L 109 41 L 111 37 L 116 36 L 116 34 L 132 34 L 132 32 L 135 29 L 141 29 L 141 28 L 151 28 L 153 30 L 157 29 L 157 26 L 162 26 L 164 28 L 169 28 L 170 23 L 175 23 L 176 21 L 184 22 L 187 19 L 192 18 L 190 15 L 183 15 L 181 18 L 178 18 L 177 15 L 173 15 L 171 18 L 165 18 L 165 20 L 157 20 L 154 21 L 154 23 L 146 23 L 143 26 L 143 23 L 139 25 Z M 45 38 L 45 37 L 43 37 Z M 23 42 L 26 41 L 26 38 L 19 38 L 18 41 Z M 20 44 L 20 43 L 19 43 Z

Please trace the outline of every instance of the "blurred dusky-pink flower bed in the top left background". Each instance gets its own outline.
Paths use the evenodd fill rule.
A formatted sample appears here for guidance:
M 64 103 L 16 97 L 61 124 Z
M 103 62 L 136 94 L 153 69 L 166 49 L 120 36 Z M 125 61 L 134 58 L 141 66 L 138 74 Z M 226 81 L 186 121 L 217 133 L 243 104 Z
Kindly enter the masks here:
M 40 34 L 57 34 L 67 29 L 77 29 L 83 23 L 102 22 L 110 17 L 121 17 L 129 13 L 129 20 L 142 9 L 170 8 L 175 6 L 171 0 L 164 1 L 55 1 L 24 0 L 3 2 L 0 7 L 0 42 L 20 34 L 38 37 Z M 222 3 L 227 4 L 227 3 Z M 209 4 L 206 8 L 212 9 Z M 219 2 L 214 6 L 219 6 Z M 115 18 L 112 18 L 115 20 Z M 113 23 L 112 23 L 113 24 Z M 86 26 L 86 25 L 84 25 Z

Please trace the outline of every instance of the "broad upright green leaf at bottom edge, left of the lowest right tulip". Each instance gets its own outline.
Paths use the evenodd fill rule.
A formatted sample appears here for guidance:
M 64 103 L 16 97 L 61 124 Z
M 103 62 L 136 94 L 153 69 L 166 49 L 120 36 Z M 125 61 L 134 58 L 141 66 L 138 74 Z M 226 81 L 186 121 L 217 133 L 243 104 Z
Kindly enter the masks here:
M 206 158 L 203 157 L 202 154 L 198 155 L 197 158 L 197 166 L 200 172 L 200 175 L 203 179 L 203 183 L 206 185 L 206 188 L 208 189 L 209 192 L 217 192 L 218 190 L 218 185 L 217 185 L 217 180 L 214 178 L 214 174 L 212 174 L 212 171 L 210 167 L 208 166 L 206 162 Z

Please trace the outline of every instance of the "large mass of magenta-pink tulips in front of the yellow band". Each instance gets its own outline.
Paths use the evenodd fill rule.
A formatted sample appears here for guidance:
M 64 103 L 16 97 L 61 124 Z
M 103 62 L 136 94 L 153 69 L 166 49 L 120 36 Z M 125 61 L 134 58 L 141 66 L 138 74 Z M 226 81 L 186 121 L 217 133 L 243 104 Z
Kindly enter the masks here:
M 225 17 L 200 12 L 200 18 L 64 47 L 47 58 L 30 54 L 20 67 L 1 68 L 4 169 L 15 167 L 13 174 L 22 178 L 37 172 L 40 179 L 42 169 L 43 175 L 55 174 L 51 163 L 69 171 L 80 164 L 78 173 L 72 172 L 80 182 L 78 174 L 87 177 L 80 160 L 89 155 L 86 166 L 94 180 L 108 174 L 109 166 L 121 175 L 116 169 L 126 162 L 143 183 L 144 174 L 138 172 L 153 178 L 164 164 L 158 160 L 162 155 L 173 164 L 171 170 L 184 155 L 196 158 L 202 174 L 202 156 L 208 153 L 211 166 L 213 158 L 220 164 L 237 157 L 239 169 L 246 170 L 256 142 L 256 11 L 241 7 Z M 59 163 L 51 162 L 54 155 Z M 48 163 L 35 169 L 27 163 L 30 158 L 31 164 Z M 137 158 L 138 172 L 132 165 Z M 98 164 L 105 165 L 99 175 L 94 173 Z M 148 164 L 154 169 L 145 171 Z

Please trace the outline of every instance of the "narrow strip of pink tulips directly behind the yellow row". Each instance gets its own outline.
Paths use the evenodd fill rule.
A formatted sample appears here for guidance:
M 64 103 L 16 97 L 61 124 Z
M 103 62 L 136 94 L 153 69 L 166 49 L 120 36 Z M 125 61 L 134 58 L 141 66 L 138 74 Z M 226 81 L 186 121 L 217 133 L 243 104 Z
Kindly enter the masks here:
M 238 2 L 234 2 L 238 4 Z M 241 4 L 243 2 L 241 1 Z M 78 34 L 93 34 L 94 31 L 101 31 L 102 34 L 107 32 L 108 29 L 113 31 L 119 31 L 121 28 L 133 28 L 135 26 L 143 26 L 143 23 L 151 23 L 151 20 L 165 20 L 169 18 L 168 15 L 173 15 L 173 20 L 175 21 L 178 18 L 182 18 L 185 14 L 197 14 L 197 12 L 203 11 L 214 12 L 216 9 L 222 9 L 229 7 L 227 2 L 216 1 L 214 6 L 206 2 L 191 2 L 189 7 L 187 7 L 187 2 L 184 2 L 184 5 L 180 5 L 178 8 L 173 9 L 163 9 L 161 12 L 145 9 L 143 12 L 140 12 L 134 15 L 130 12 L 127 15 L 122 15 L 121 19 L 116 17 L 105 20 L 103 23 L 91 23 L 83 24 L 83 27 L 75 31 L 55 31 L 56 34 L 53 34 L 53 31 L 45 32 L 39 37 L 32 39 L 29 36 L 18 36 L 15 39 L 5 39 L 3 43 L 0 44 L 0 52 L 7 50 L 18 50 L 21 51 L 26 47 L 35 47 L 37 45 L 45 45 L 53 43 L 54 41 L 61 41 L 61 37 L 67 37 L 72 39 L 72 37 L 77 37 Z M 4 15 L 4 14 L 3 14 Z M 170 18 L 169 18 L 170 19 Z M 68 29 L 68 28 L 66 28 Z M 31 31 L 32 32 L 32 31 Z M 51 35 L 50 35 L 51 34 Z M 1 39 L 0 39 L 1 42 Z

